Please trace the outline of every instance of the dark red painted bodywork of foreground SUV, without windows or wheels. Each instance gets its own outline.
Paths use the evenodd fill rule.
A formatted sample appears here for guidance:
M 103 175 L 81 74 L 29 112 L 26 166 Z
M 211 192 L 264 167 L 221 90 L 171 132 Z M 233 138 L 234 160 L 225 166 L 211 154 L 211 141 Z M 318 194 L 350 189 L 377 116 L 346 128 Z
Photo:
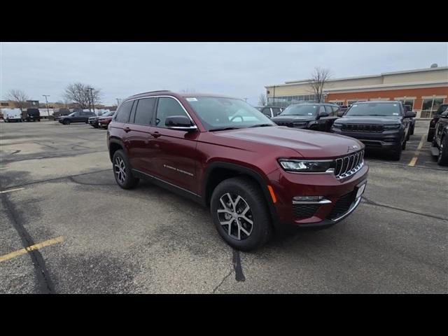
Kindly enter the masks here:
M 279 126 L 207 132 L 186 100 L 186 97 L 198 97 L 200 94 L 158 92 L 141 94 L 141 97 L 160 95 L 178 99 L 193 119 L 197 131 L 185 132 L 112 120 L 108 129 L 111 157 L 114 148 L 120 146 L 127 154 L 132 169 L 188 190 L 204 204 L 208 203 L 208 176 L 214 163 L 218 166 L 232 164 L 246 169 L 244 172 L 253 172 L 253 176 L 259 177 L 258 183 L 276 221 L 295 225 L 328 221 L 325 218 L 339 197 L 353 192 L 359 183 L 367 179 L 367 165 L 346 179 L 337 179 L 334 174 L 286 172 L 278 162 L 279 158 L 341 158 L 350 154 L 348 148 L 353 145 L 361 150 L 364 148 L 356 139 Z M 135 97 L 138 96 L 133 99 Z M 125 128 L 130 130 L 125 132 Z M 167 169 L 167 166 L 174 169 Z M 267 186 L 272 186 L 276 203 L 269 196 Z M 295 218 L 292 199 L 301 195 L 324 196 L 332 203 L 322 204 L 310 218 Z

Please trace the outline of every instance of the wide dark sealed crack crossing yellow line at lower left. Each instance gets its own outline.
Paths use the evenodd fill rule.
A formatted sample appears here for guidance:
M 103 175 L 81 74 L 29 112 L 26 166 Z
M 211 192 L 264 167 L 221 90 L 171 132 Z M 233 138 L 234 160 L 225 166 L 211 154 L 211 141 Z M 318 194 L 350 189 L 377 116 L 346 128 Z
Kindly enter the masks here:
M 8 195 L 2 194 L 1 202 L 6 210 L 6 215 L 10 218 L 11 223 L 13 223 L 13 227 L 18 232 L 18 235 L 22 241 L 22 246 L 27 248 L 34 245 L 34 240 L 23 226 L 23 220 L 18 211 L 15 209 L 13 203 L 8 199 Z M 41 252 L 36 249 L 33 251 L 28 251 L 28 255 L 34 265 L 34 272 L 36 273 L 36 278 L 41 293 L 55 293 L 55 286 L 52 283 L 48 269 L 45 267 L 45 260 L 43 259 Z

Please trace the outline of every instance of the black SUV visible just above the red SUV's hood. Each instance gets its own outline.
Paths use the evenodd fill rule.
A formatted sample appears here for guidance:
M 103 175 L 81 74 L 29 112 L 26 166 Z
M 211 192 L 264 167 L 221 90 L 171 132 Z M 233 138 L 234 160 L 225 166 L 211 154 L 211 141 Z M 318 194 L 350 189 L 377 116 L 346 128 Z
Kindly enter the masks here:
M 272 121 L 279 126 L 330 132 L 331 125 L 341 113 L 336 104 L 293 104 Z

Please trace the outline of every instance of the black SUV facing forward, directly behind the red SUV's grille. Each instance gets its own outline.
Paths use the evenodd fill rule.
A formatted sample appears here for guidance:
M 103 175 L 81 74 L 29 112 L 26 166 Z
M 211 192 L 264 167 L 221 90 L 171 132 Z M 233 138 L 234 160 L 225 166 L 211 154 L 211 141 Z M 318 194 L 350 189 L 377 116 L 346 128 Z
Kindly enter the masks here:
M 405 111 L 401 102 L 358 102 L 335 121 L 331 132 L 356 138 L 366 148 L 390 151 L 394 160 L 400 160 L 409 139 L 411 118 L 415 113 Z

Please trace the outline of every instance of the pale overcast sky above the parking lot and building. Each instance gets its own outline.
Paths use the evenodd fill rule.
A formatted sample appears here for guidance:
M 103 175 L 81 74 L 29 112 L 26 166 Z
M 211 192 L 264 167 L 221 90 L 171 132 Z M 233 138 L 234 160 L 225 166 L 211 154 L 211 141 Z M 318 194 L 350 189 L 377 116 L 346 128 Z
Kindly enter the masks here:
M 265 85 L 309 78 L 314 66 L 332 78 L 447 66 L 448 43 L 0 43 L 0 96 L 62 100 L 64 87 L 101 88 L 102 102 L 151 90 L 195 90 L 248 98 Z

